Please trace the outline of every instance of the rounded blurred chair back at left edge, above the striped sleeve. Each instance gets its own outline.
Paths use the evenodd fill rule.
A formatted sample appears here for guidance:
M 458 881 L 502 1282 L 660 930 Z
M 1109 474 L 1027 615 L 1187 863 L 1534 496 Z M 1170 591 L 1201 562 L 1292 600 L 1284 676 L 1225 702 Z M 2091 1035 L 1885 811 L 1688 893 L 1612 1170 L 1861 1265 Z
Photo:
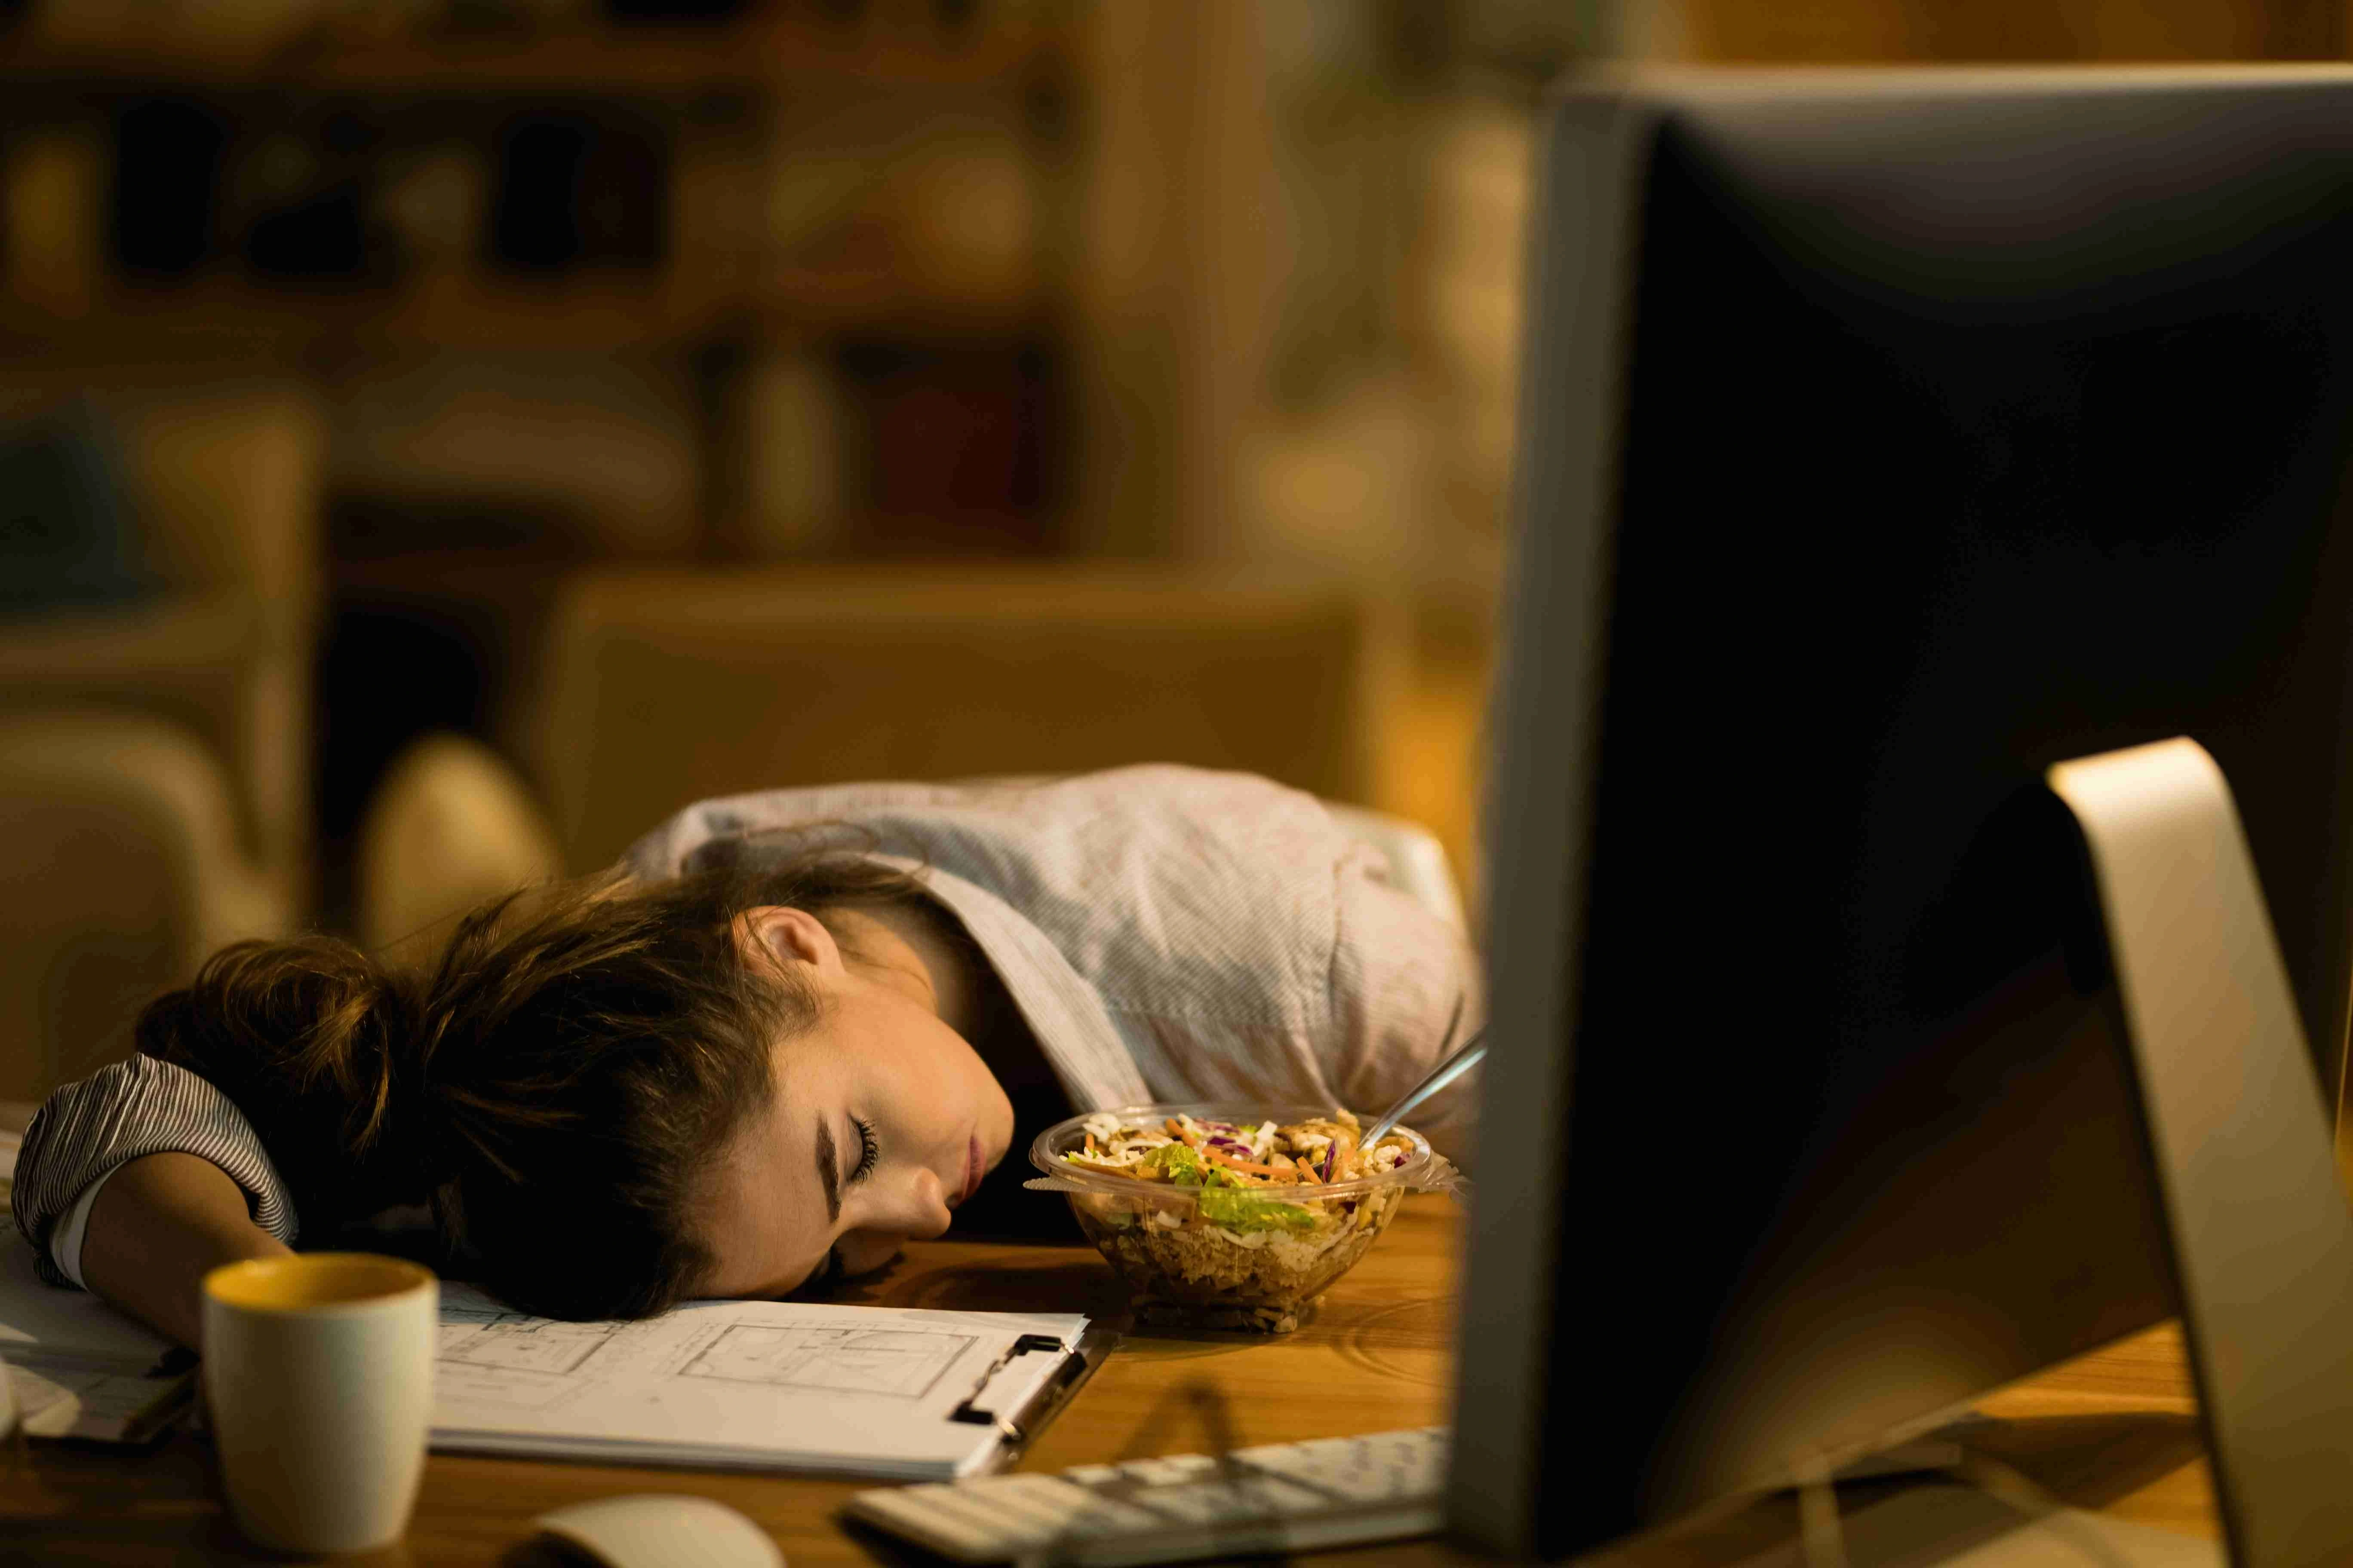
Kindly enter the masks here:
M 292 924 L 216 752 L 167 719 L 0 712 L 0 1100 L 129 1048 L 155 992 Z

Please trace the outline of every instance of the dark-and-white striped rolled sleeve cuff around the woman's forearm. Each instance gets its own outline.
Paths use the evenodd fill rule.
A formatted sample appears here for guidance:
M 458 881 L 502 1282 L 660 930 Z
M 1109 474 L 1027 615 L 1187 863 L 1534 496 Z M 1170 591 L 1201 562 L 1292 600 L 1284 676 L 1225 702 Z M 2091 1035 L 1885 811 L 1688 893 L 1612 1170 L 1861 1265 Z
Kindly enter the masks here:
M 254 1225 L 294 1244 L 294 1199 L 245 1112 L 186 1067 L 132 1056 L 59 1088 L 24 1131 L 9 1206 L 42 1279 L 73 1284 L 49 1260 L 49 1232 L 89 1182 L 144 1154 L 209 1159 L 245 1190 Z

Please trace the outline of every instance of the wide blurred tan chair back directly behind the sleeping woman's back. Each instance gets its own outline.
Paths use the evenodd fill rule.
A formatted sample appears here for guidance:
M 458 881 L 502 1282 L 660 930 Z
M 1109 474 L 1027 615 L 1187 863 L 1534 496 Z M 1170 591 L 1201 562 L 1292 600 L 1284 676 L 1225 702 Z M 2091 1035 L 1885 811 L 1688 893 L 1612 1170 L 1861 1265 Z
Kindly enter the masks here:
M 600 571 L 565 585 L 515 755 L 572 870 L 687 802 L 1191 762 L 1339 802 L 1405 677 L 1341 588 L 1141 567 Z

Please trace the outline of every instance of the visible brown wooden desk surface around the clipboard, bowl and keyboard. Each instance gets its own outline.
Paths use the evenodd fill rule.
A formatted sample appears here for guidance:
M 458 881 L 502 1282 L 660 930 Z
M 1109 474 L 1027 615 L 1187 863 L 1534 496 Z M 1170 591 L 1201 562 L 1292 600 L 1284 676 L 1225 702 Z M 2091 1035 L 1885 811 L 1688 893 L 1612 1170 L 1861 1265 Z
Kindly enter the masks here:
M 1447 1420 L 1452 1284 L 1459 1213 L 1412 1199 L 1372 1251 L 1285 1340 L 1146 1331 L 1024 1458 L 1024 1469 L 1089 1460 L 1200 1453 L 1419 1427 Z M 934 1241 L 849 1300 L 899 1307 L 1026 1307 L 1113 1314 L 1120 1286 L 1087 1248 Z M 2158 1328 L 1986 1401 L 2002 1427 L 1981 1446 L 2078 1507 L 2212 1535 L 2181 1342 Z M 612 1493 L 675 1490 L 720 1497 L 762 1526 L 793 1568 L 873 1561 L 835 1523 L 854 1481 L 727 1476 L 433 1455 L 407 1540 L 362 1563 L 496 1563 L 529 1519 Z M 1760 1505 L 1758 1540 L 1781 1528 Z M 1692 1563 L 1692 1552 L 1638 1559 Z M 1701 1552 L 1699 1559 L 1718 1559 Z M 214 1495 L 209 1455 L 186 1434 L 148 1455 L 35 1446 L 0 1476 L 0 1559 L 94 1563 L 285 1563 L 245 1547 Z M 1327 1561 L 1459 1561 L 1438 1542 L 1402 1542 Z

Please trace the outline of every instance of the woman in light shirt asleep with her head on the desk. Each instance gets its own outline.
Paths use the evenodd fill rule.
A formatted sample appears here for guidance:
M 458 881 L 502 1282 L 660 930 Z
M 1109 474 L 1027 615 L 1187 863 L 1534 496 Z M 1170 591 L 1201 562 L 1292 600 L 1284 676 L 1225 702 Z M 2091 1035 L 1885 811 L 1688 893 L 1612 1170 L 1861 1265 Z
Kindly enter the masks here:
M 1386 1105 L 1482 1004 L 1384 870 L 1313 797 L 1176 766 L 704 802 L 426 969 L 221 950 L 42 1105 L 16 1225 L 186 1345 L 209 1267 L 395 1211 L 546 1316 L 786 1295 L 951 1215 L 1061 1220 L 1007 1154 L 1078 1110 Z M 1414 1124 L 1459 1157 L 1464 1112 Z

